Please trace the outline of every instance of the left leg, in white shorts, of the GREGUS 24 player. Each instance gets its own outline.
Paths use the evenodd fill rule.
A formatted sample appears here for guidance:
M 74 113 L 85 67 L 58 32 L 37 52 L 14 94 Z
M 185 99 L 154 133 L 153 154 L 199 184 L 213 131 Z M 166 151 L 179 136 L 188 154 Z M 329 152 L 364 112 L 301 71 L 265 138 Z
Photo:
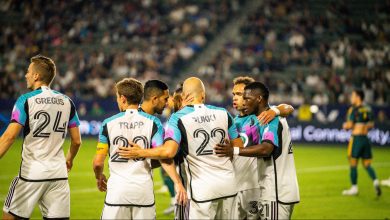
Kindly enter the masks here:
M 11 183 L 4 202 L 3 218 L 30 218 L 45 189 L 45 182 L 26 182 L 16 177 Z

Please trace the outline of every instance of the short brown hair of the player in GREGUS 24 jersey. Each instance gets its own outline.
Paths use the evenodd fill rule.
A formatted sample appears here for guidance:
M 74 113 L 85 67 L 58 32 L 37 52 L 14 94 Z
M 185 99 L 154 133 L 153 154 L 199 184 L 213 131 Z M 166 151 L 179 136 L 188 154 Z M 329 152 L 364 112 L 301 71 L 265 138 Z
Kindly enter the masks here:
M 34 64 L 34 71 L 39 74 L 40 81 L 50 85 L 56 76 L 56 64 L 54 61 L 42 55 L 33 56 L 30 61 Z

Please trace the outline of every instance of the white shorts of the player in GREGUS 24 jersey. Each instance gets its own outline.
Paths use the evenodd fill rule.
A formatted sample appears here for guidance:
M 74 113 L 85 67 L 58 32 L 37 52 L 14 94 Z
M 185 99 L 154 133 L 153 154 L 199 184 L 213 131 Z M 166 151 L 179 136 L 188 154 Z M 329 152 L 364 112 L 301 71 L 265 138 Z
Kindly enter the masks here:
M 38 203 L 45 218 L 69 218 L 68 180 L 27 182 L 15 177 L 5 199 L 3 211 L 16 217 L 30 218 Z

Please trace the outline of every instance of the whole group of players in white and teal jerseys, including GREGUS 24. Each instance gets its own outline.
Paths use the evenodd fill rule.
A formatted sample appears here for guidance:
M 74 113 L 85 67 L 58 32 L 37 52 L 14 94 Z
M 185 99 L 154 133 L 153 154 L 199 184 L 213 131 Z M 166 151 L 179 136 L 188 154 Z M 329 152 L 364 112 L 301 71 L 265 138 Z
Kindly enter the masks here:
M 0 139 L 2 157 L 23 130 L 22 162 L 4 203 L 5 219 L 29 218 L 37 203 L 45 219 L 70 216 L 68 172 L 81 136 L 72 100 L 49 88 L 55 72 L 50 58 L 31 58 L 25 77 L 32 92 L 17 99 Z M 291 218 L 300 198 L 284 117 L 293 108 L 270 107 L 268 88 L 250 77 L 233 85 L 235 118 L 205 104 L 199 78 L 186 79 L 172 96 L 175 112 L 163 128 L 155 114 L 169 99 L 165 83 L 116 83 L 120 113 L 103 121 L 93 161 L 97 187 L 106 192 L 102 219 L 155 219 L 152 168 L 160 164 L 175 183 L 176 219 Z

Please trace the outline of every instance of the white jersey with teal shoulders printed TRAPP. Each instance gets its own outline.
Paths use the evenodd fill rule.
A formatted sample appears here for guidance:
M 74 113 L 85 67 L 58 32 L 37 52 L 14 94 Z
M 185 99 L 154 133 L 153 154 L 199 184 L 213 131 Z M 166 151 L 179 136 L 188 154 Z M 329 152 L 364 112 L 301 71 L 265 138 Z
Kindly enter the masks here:
M 123 159 L 116 151 L 120 146 L 130 147 L 129 141 L 145 149 L 161 146 L 163 132 L 158 118 L 136 109 L 128 109 L 103 122 L 99 142 L 108 144 L 110 157 L 106 205 L 154 205 L 150 159 Z

